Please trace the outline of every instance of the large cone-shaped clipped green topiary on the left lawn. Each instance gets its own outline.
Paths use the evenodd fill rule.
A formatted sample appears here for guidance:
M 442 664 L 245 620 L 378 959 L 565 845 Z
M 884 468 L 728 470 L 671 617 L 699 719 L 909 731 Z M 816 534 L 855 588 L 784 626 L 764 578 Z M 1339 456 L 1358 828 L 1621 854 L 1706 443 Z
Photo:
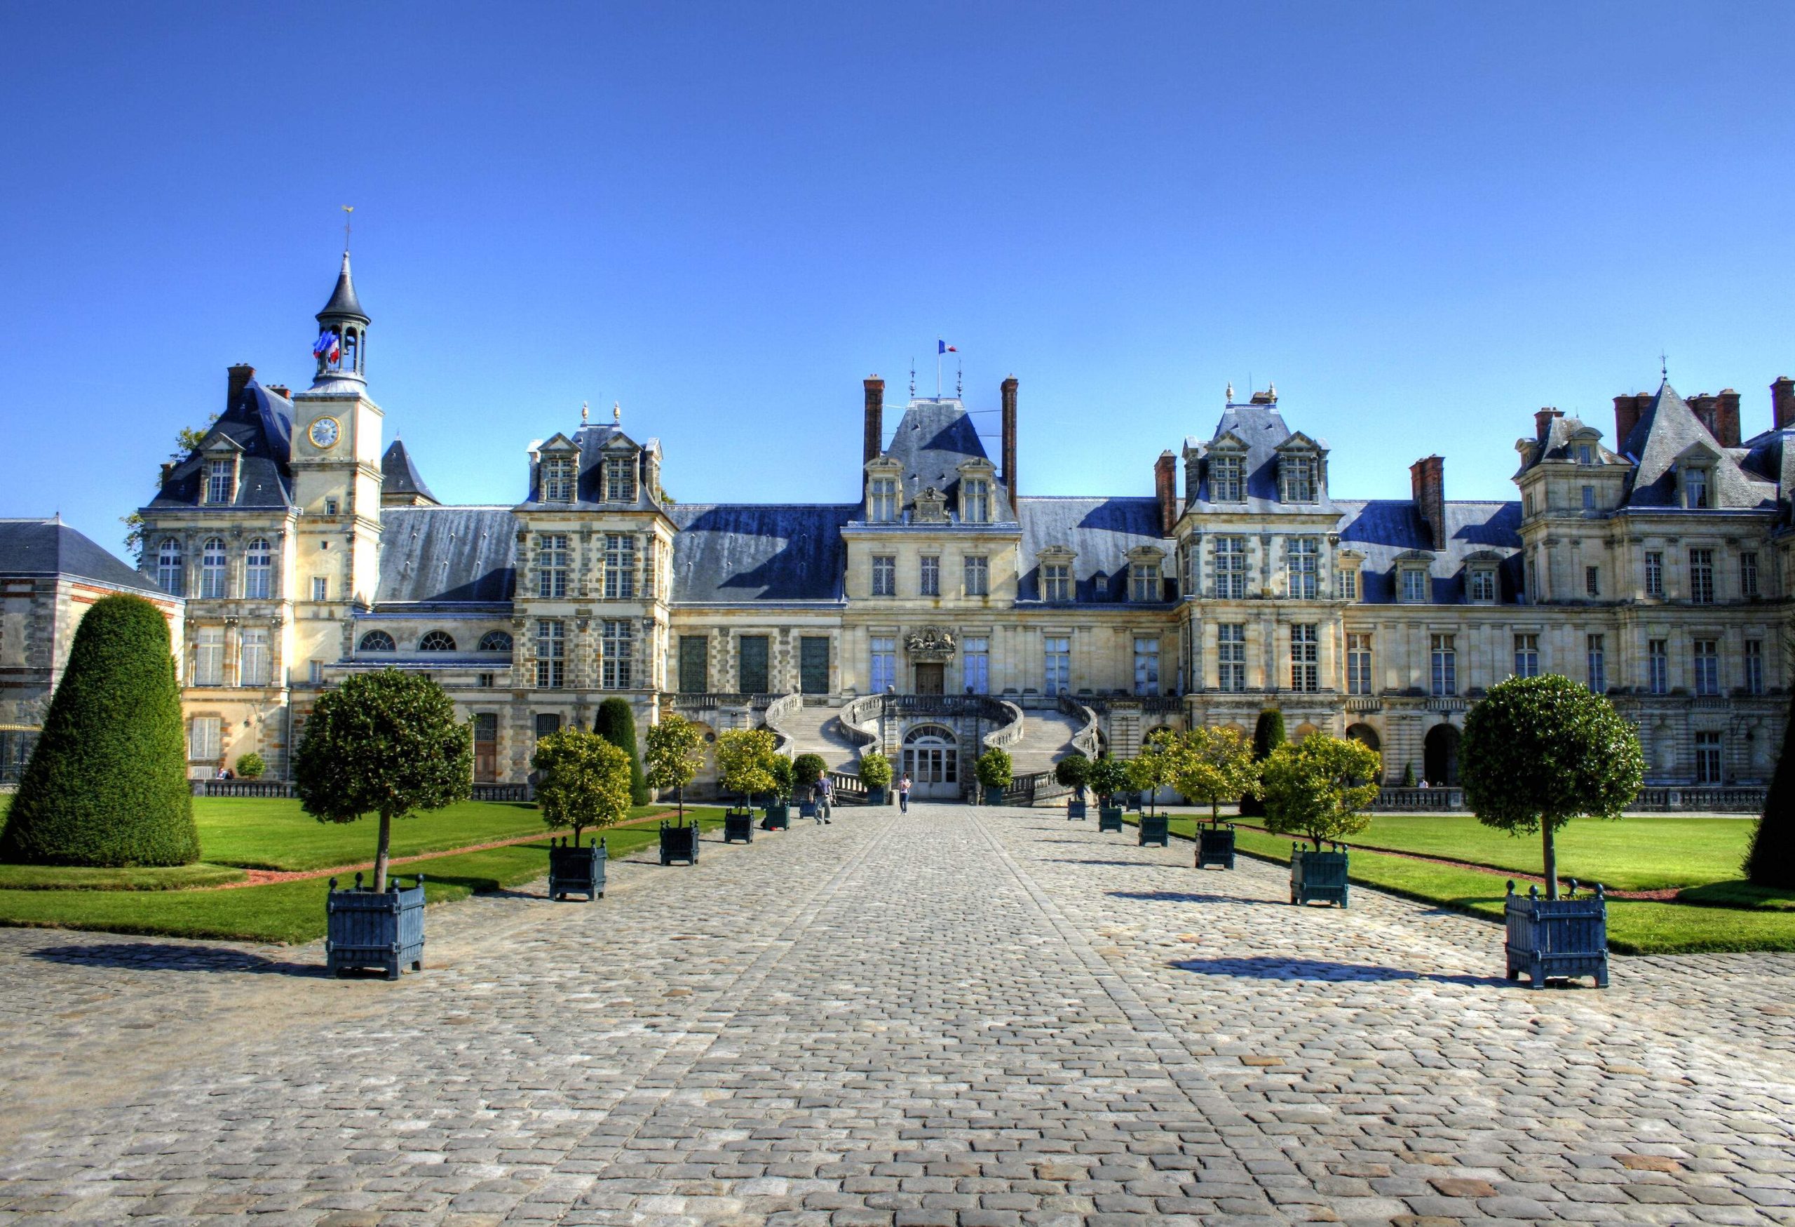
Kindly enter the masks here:
M 197 859 L 169 623 L 142 596 L 102 596 L 75 629 L 0 834 L 0 861 L 154 866 Z

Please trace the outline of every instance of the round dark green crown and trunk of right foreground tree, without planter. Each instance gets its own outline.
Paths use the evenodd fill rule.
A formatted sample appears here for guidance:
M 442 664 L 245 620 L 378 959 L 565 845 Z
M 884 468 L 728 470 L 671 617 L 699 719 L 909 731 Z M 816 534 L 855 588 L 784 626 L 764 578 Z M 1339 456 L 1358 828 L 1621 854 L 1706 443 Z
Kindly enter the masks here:
M 1544 674 L 1510 677 L 1465 717 L 1465 801 L 1484 826 L 1542 832 L 1545 898 L 1558 898 L 1553 834 L 1572 817 L 1619 817 L 1639 794 L 1639 733 L 1605 695 Z

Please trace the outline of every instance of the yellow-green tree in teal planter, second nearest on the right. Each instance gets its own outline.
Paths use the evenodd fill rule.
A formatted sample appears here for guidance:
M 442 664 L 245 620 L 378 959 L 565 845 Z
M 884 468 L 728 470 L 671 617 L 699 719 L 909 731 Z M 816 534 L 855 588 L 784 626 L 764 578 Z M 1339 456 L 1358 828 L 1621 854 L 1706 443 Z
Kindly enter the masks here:
M 1314 848 L 1291 844 L 1291 902 L 1348 905 L 1344 835 L 1371 825 L 1364 812 L 1377 799 L 1377 751 L 1362 742 L 1310 733 L 1271 751 L 1262 769 L 1265 830 L 1301 835 Z M 1323 850 L 1323 843 L 1334 848 Z

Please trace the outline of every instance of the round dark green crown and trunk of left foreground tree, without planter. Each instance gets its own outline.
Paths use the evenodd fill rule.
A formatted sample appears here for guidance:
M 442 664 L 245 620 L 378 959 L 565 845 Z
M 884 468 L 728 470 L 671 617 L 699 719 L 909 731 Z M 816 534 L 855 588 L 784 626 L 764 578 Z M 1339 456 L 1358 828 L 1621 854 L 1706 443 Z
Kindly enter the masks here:
M 474 729 L 429 677 L 397 668 L 350 674 L 305 719 L 293 780 L 320 823 L 381 816 L 373 889 L 384 891 L 393 819 L 474 792 Z

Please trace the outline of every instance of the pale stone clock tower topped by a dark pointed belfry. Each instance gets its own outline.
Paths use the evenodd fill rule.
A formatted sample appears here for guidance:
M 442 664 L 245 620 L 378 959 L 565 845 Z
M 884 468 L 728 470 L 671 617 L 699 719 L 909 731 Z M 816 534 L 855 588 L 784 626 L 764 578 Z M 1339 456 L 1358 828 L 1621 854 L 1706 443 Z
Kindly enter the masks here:
M 348 656 L 348 614 L 373 604 L 381 543 L 381 406 L 368 399 L 368 314 L 348 252 L 318 313 L 312 386 L 293 395 L 294 631 L 303 661 Z M 312 670 L 316 672 L 316 670 Z

